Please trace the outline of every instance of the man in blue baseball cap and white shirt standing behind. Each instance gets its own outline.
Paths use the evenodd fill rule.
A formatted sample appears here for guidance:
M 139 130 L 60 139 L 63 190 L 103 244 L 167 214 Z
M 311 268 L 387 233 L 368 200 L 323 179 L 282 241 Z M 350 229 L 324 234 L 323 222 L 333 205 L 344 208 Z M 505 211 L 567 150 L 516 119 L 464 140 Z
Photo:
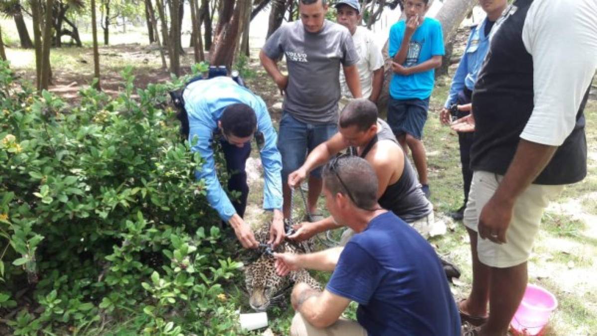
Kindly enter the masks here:
M 355 44 L 359 60 L 356 67 L 361 82 L 361 93 L 363 98 L 376 103 L 377 97 L 383 85 L 383 56 L 381 48 L 374 41 L 373 32 L 365 27 L 359 26 L 362 20 L 361 5 L 358 0 L 340 0 L 336 2 L 336 20 L 342 26 L 348 28 L 352 41 Z M 342 97 L 352 99 L 344 73 L 340 72 L 340 85 Z M 347 102 L 346 102 L 347 103 Z

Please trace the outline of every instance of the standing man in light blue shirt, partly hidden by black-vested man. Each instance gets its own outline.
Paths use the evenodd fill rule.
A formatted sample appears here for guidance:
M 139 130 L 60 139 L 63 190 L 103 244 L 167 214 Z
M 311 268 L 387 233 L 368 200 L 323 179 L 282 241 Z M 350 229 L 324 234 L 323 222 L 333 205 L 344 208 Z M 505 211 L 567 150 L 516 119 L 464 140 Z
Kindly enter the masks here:
M 457 118 L 462 118 L 470 113 L 470 100 L 477 81 L 479 69 L 485 60 L 485 55 L 489 50 L 491 27 L 500 17 L 506 0 L 498 1 L 479 1 L 481 8 L 487 13 L 487 17 L 481 21 L 478 26 L 470 29 L 469 39 L 464 48 L 464 54 L 460 58 L 460 63 L 454 73 L 450 93 L 444 109 L 442 109 L 439 118 L 444 125 L 450 124 L 450 107 L 457 105 Z M 458 144 L 460 145 L 460 165 L 462 170 L 462 180 L 464 184 L 464 205 L 451 213 L 454 220 L 462 220 L 466 202 L 469 200 L 470 182 L 473 178 L 473 171 L 470 169 L 470 146 L 473 143 L 473 132 L 458 132 Z

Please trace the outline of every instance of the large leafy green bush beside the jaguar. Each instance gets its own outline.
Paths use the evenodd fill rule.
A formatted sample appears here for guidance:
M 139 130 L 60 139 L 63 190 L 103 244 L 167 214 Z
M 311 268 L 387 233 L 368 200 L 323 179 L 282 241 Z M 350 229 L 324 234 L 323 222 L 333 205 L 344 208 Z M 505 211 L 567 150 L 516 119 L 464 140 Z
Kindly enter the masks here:
M 224 288 L 241 264 L 166 103 L 187 78 L 135 90 L 122 76 L 117 98 L 85 88 L 70 105 L 0 61 L 0 316 L 15 335 L 127 316 L 135 334 L 238 334 Z

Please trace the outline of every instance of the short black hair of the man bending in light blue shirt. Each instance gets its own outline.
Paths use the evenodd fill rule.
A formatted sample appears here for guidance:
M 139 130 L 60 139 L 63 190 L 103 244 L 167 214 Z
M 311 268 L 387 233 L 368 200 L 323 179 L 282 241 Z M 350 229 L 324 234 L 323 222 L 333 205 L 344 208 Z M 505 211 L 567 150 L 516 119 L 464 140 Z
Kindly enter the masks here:
M 255 111 L 251 106 L 242 103 L 226 106 L 220 123 L 224 134 L 239 138 L 250 137 L 257 129 Z

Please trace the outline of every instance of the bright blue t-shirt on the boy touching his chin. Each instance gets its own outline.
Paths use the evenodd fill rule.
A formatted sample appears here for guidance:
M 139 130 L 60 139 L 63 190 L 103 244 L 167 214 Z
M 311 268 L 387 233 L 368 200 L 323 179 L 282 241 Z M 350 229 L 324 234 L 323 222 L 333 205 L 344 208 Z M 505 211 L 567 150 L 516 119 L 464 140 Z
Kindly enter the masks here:
M 390 44 L 388 54 L 394 57 L 404 38 L 406 22 L 395 23 L 390 28 Z M 403 66 L 411 67 L 429 60 L 432 56 L 444 55 L 444 36 L 438 20 L 426 17 L 415 30 L 408 46 L 407 58 Z M 390 81 L 390 95 L 394 99 L 426 99 L 433 91 L 435 70 L 417 72 L 402 76 L 394 73 Z

